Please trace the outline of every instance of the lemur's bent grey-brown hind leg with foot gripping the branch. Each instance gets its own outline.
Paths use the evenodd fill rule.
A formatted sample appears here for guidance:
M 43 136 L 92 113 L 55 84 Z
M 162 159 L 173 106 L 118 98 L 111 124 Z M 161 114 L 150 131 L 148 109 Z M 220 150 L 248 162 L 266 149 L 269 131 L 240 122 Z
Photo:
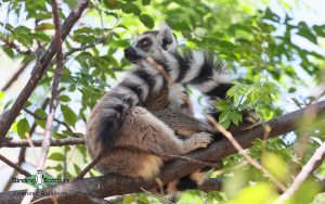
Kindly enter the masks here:
M 134 146 L 144 152 L 154 150 L 183 155 L 206 148 L 211 141 L 211 135 L 198 132 L 187 140 L 181 140 L 168 125 L 146 109 L 134 106 L 123 116 L 116 146 Z

